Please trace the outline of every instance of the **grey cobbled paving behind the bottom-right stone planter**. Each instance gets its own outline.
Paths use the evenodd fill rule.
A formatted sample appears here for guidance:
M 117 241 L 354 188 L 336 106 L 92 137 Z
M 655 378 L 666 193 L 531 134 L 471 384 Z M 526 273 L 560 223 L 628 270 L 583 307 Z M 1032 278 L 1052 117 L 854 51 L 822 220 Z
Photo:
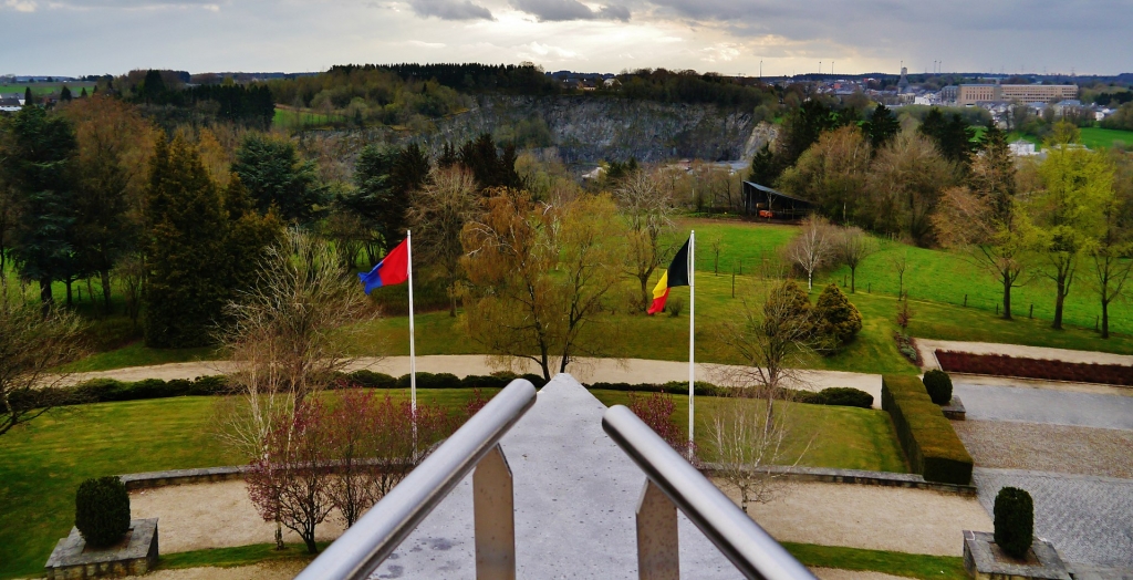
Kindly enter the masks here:
M 1000 488 L 1026 489 L 1034 500 L 1034 535 L 1053 541 L 1067 561 L 1133 570 L 1133 480 L 986 468 L 972 479 L 988 513 Z

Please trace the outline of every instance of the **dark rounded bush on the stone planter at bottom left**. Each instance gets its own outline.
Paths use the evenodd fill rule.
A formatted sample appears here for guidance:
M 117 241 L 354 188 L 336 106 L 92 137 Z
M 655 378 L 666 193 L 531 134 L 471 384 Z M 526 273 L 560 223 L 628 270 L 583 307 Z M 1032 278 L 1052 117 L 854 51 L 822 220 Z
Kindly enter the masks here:
M 130 495 L 114 477 L 87 479 L 75 494 L 75 527 L 87 545 L 112 546 L 130 529 Z

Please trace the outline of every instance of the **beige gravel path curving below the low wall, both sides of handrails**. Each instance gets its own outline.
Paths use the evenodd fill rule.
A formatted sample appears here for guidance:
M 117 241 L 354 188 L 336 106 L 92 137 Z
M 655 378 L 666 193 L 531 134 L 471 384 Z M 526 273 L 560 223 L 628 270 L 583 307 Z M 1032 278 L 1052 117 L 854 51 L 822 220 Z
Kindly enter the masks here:
M 130 506 L 134 518 L 161 519 L 165 553 L 274 541 L 274 526 L 256 513 L 242 481 L 138 491 L 130 494 Z M 755 505 L 749 513 L 784 541 L 913 554 L 957 556 L 961 530 L 991 529 L 972 498 L 846 484 L 795 484 L 780 500 Z M 318 528 L 321 540 L 340 534 L 337 522 Z M 284 539 L 300 541 L 291 532 Z

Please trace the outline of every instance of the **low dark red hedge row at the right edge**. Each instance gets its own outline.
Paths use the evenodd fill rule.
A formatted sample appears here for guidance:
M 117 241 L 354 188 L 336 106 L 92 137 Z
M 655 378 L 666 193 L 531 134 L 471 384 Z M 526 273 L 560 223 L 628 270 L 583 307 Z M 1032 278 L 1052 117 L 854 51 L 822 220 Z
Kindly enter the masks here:
M 949 373 L 1133 386 L 1133 367 L 1126 365 L 1064 362 L 1062 360 L 1008 357 L 1006 355 L 972 355 L 947 350 L 936 351 L 936 359 L 940 361 L 940 367 Z

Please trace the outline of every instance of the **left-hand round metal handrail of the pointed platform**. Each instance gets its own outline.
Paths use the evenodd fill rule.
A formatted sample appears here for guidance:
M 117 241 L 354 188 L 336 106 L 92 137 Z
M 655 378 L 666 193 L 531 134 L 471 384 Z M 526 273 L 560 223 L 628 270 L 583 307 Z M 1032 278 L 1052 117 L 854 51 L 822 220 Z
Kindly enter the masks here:
M 512 381 L 296 579 L 368 578 L 534 404 L 535 386 Z

